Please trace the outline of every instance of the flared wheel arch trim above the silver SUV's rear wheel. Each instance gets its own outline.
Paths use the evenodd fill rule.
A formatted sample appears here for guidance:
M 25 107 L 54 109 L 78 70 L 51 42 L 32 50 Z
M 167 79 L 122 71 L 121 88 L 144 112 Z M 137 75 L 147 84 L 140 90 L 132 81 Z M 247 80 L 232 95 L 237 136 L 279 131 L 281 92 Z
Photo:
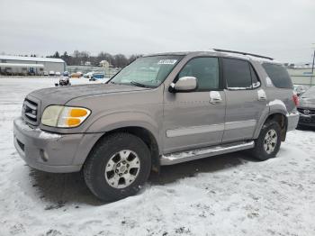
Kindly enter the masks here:
M 279 99 L 275 99 L 274 101 L 271 101 L 268 104 L 266 104 L 266 109 L 264 109 L 264 111 L 262 112 L 260 119 L 257 123 L 256 130 L 254 132 L 254 137 L 253 137 L 254 140 L 258 138 L 259 133 L 264 123 L 266 123 L 266 120 L 268 119 L 268 117 L 274 113 L 281 113 L 284 115 L 285 119 L 287 119 L 286 114 L 288 113 L 288 111 L 283 101 Z

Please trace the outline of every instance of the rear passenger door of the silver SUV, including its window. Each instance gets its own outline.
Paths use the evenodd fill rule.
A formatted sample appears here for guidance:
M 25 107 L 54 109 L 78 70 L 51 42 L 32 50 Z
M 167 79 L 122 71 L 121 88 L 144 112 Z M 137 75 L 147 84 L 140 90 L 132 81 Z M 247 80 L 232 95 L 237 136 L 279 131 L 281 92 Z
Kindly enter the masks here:
M 249 61 L 223 58 L 222 68 L 227 103 L 222 141 L 250 140 L 266 107 L 266 93 Z

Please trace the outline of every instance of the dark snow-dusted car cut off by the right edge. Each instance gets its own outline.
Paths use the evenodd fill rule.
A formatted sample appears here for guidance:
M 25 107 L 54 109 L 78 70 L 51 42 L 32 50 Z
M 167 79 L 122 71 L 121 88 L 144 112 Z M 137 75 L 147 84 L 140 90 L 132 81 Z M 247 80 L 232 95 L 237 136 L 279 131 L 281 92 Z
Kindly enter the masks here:
M 312 86 L 301 95 L 298 111 L 300 113 L 300 127 L 315 127 L 315 86 Z

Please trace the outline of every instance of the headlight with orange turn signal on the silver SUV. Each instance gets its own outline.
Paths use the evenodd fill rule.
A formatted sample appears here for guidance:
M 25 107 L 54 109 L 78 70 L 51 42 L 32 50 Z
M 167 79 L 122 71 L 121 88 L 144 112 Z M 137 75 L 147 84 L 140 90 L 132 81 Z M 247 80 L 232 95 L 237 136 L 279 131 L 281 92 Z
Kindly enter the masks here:
M 49 105 L 41 116 L 41 123 L 47 126 L 71 128 L 79 126 L 91 113 L 83 107 Z

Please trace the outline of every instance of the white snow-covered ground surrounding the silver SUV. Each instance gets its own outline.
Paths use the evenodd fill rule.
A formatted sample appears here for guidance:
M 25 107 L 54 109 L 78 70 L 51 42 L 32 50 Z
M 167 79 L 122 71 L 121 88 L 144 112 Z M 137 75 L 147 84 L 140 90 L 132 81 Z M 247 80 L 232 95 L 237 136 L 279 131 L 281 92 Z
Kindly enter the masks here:
M 24 96 L 53 80 L 0 77 L 1 236 L 315 235 L 314 131 L 290 132 L 265 162 L 238 152 L 164 167 L 139 195 L 103 204 L 80 173 L 32 170 L 14 150 Z

